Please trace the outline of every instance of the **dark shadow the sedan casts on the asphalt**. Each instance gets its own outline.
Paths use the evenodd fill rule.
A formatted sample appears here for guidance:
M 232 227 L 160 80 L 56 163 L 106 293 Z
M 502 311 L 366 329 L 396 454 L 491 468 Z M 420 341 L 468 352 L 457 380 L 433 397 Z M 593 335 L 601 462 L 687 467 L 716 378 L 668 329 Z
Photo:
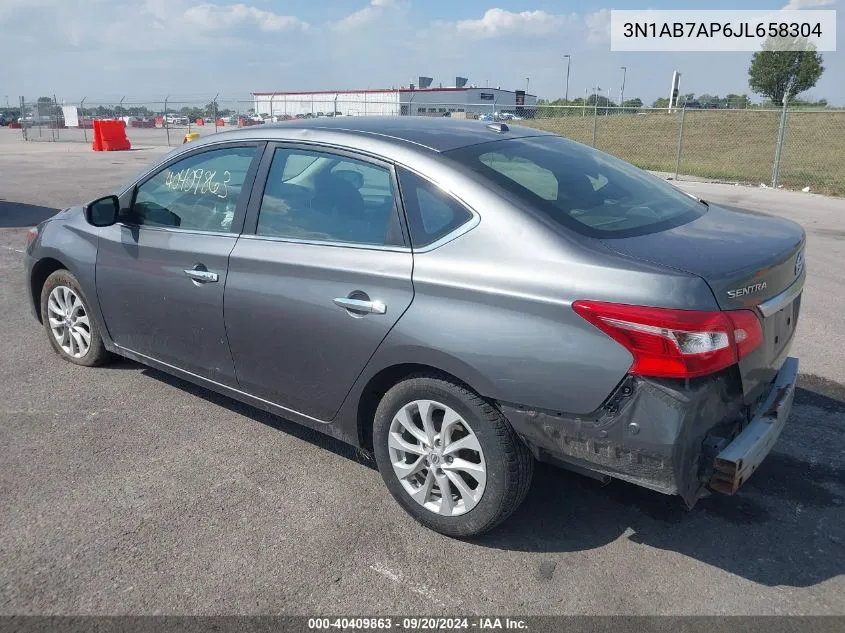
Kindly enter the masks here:
M 132 361 L 111 367 L 137 370 Z M 289 433 L 336 455 L 375 468 L 347 444 L 164 372 L 145 375 Z M 845 386 L 802 374 L 793 411 L 826 417 L 835 441 L 795 457 L 784 433 L 754 476 L 735 496 L 713 495 L 688 510 L 679 497 L 622 481 L 607 485 L 537 464 L 525 503 L 475 545 L 525 552 L 576 552 L 620 537 L 674 551 L 768 586 L 810 586 L 845 573 Z M 812 413 L 815 412 L 815 413 Z M 801 420 L 808 414 L 801 415 Z M 793 420 L 793 422 L 795 422 Z M 813 428 L 807 429 L 812 432 Z M 793 431 L 794 433 L 794 431 Z M 805 433 L 799 433 L 803 437 Z M 812 441 L 812 439 L 810 439 Z

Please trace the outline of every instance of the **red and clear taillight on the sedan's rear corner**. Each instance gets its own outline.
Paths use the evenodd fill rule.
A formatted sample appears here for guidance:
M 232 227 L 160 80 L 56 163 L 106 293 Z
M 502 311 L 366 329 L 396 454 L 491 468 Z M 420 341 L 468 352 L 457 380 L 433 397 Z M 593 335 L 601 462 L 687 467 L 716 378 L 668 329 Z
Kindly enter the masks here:
M 572 309 L 634 357 L 629 373 L 694 378 L 730 367 L 763 342 L 750 310 L 708 312 L 576 301 Z

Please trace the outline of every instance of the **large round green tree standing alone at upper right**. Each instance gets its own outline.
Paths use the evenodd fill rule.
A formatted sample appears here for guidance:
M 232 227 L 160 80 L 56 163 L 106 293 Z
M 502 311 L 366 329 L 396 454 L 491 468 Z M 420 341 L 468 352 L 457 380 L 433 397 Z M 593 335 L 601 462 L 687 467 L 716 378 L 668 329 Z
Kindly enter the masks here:
M 815 49 L 783 50 L 785 44 L 801 44 L 800 39 L 768 39 L 763 50 L 751 56 L 748 85 L 757 94 L 780 105 L 816 85 L 824 72 L 824 59 Z

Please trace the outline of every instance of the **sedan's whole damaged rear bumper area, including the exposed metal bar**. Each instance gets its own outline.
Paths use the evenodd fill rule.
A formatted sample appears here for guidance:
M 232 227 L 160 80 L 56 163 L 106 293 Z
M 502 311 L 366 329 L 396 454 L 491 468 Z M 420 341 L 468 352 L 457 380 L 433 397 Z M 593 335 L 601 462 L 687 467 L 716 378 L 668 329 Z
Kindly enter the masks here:
M 689 381 L 628 376 L 584 416 L 499 404 L 538 459 L 692 507 L 709 490 L 733 494 L 759 467 L 786 424 L 797 375 L 798 360 L 787 358 L 753 410 L 735 368 Z

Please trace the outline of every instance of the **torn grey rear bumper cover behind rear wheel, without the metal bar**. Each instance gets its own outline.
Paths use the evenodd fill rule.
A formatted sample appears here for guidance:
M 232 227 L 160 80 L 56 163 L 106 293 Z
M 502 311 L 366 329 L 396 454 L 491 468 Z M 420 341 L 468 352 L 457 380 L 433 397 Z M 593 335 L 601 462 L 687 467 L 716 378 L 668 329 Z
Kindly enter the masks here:
M 733 434 L 743 415 L 733 369 L 689 381 L 629 376 L 587 416 L 501 406 L 541 459 L 677 494 L 689 506 L 709 475 L 708 443 Z

